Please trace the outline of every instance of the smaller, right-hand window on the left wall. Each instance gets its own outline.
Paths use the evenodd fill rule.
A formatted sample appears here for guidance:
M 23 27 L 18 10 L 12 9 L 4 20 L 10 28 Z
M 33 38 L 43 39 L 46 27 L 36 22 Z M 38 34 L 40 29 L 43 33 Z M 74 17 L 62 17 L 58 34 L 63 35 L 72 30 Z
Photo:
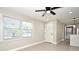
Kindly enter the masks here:
M 32 36 L 32 23 L 22 22 L 22 36 L 23 37 Z

